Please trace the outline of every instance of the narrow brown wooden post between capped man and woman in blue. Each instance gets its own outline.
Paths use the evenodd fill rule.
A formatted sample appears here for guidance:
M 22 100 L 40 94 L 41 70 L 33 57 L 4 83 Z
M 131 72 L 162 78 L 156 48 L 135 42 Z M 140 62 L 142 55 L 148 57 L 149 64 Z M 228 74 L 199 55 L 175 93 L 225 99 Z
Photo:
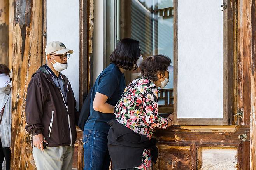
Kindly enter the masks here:
M 93 87 L 93 0 L 79 5 L 79 108 Z

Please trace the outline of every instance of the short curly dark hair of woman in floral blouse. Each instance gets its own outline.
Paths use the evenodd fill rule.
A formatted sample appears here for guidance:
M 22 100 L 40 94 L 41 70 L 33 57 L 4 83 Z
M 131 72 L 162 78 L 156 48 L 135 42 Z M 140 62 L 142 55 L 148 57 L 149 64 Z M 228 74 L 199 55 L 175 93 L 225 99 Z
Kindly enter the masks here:
M 169 57 L 161 54 L 147 57 L 140 64 L 141 75 L 149 78 L 153 82 L 157 81 L 157 74 L 159 72 L 165 74 L 165 71 L 168 66 L 170 66 L 171 62 Z

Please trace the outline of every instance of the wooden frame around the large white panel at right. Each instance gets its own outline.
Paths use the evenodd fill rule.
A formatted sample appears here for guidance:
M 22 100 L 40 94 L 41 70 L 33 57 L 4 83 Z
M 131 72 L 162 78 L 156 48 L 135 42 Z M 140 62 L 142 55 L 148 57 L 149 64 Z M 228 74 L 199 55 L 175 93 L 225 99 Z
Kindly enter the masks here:
M 231 0 L 223 0 L 223 118 L 178 118 L 178 1 L 174 0 L 174 123 L 177 125 L 231 125 L 233 106 L 233 7 Z M 220 4 L 221 7 L 222 4 Z

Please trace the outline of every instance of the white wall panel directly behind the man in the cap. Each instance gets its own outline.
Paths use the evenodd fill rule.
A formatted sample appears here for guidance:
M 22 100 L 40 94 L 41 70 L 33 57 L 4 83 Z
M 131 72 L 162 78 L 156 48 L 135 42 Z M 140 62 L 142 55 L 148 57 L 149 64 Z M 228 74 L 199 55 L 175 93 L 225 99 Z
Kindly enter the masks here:
M 72 49 L 68 68 L 61 71 L 69 79 L 79 108 L 79 0 L 47 0 L 47 43 L 63 42 Z

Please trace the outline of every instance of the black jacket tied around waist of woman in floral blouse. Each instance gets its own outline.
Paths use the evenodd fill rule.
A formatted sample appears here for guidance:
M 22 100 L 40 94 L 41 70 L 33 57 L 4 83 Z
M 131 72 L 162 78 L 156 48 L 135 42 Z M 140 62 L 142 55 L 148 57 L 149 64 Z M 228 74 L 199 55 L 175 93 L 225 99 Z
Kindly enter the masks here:
M 151 160 L 156 163 L 156 139 L 138 134 L 116 120 L 110 120 L 109 125 L 108 149 L 114 169 L 139 167 L 144 149 L 151 149 Z

